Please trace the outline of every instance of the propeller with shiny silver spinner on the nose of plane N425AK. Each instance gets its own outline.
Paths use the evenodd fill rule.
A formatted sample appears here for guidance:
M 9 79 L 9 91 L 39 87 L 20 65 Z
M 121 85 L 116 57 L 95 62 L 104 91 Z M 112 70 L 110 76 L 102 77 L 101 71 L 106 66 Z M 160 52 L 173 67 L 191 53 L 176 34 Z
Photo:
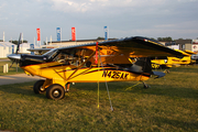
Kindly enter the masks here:
M 19 37 L 19 41 L 18 41 L 18 46 L 16 46 L 16 50 L 15 50 L 15 54 L 11 54 L 11 55 L 8 56 L 8 58 L 10 58 L 12 61 L 12 64 L 10 65 L 9 68 L 11 68 L 14 63 L 18 64 L 18 59 L 21 58 L 21 55 L 18 55 L 19 48 L 20 48 L 20 43 L 21 43 L 21 33 L 20 33 L 20 37 Z

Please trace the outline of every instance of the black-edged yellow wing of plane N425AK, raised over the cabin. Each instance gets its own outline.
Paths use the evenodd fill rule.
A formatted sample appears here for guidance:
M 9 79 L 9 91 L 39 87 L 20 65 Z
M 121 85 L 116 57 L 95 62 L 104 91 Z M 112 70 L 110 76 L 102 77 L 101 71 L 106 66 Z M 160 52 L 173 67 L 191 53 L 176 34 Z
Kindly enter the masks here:
M 184 56 L 180 52 L 142 36 L 100 42 L 98 46 L 103 55 L 128 54 L 129 57 Z M 59 50 L 66 48 L 96 51 L 96 43 L 61 47 Z

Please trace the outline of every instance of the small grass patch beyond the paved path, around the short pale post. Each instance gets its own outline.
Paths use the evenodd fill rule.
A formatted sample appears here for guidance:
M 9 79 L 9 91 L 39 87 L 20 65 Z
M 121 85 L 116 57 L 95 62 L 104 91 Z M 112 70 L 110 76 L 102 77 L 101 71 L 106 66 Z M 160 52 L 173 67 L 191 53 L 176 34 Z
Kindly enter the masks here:
M 12 65 L 11 61 L 0 62 L 0 76 L 3 75 L 13 75 L 24 73 L 19 66 L 16 69 L 16 64 L 14 63 L 11 68 L 9 68 L 9 73 L 3 73 L 3 65 L 8 64 L 9 67 Z

